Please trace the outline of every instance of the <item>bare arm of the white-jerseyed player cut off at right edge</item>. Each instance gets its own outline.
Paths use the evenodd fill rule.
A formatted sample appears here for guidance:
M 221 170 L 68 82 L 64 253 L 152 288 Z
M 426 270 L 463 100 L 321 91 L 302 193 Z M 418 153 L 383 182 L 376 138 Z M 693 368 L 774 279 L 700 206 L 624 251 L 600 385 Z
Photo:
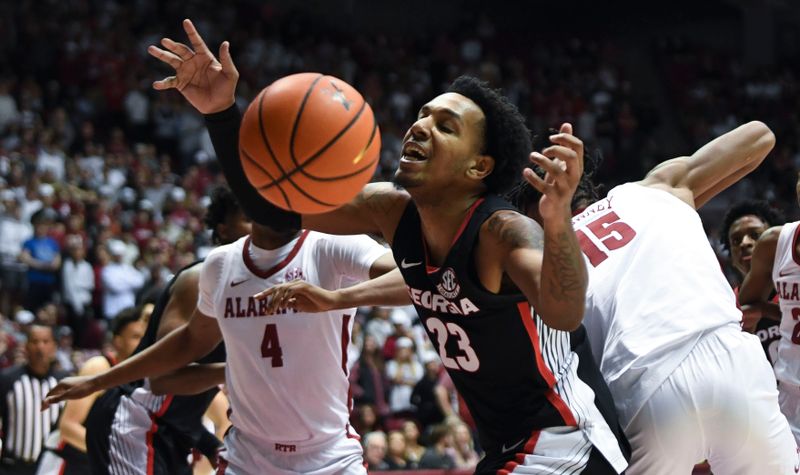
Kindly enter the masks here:
M 739 288 L 739 305 L 746 310 L 743 323 L 745 330 L 755 328 L 762 317 L 780 320 L 780 312 L 776 311 L 776 305 L 770 302 L 769 297 L 774 289 L 772 268 L 781 228 L 782 226 L 771 227 L 758 238 L 750 261 L 750 272 Z

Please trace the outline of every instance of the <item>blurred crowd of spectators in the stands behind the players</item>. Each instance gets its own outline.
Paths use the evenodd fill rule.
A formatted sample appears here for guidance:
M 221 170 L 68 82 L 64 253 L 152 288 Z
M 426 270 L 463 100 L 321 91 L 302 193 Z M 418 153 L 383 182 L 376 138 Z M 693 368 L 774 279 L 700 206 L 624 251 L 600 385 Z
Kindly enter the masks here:
M 641 176 L 635 164 L 658 149 L 651 133 L 662 117 L 637 99 L 613 40 L 525 41 L 482 14 L 458 31 L 373 36 L 317 30 L 261 2 L 4 2 L 0 367 L 22 358 L 22 329 L 38 319 L 58 326 L 59 364 L 73 370 L 102 347 L 105 322 L 152 302 L 177 269 L 210 249 L 202 220 L 208 192 L 223 182 L 214 150 L 198 113 L 178 94 L 151 89 L 166 71 L 146 53 L 161 36 L 183 38 L 184 17 L 212 50 L 231 41 L 242 108 L 294 72 L 353 84 L 381 127 L 376 179 L 391 177 L 418 108 L 459 74 L 503 88 L 534 132 L 572 121 L 603 157 L 601 181 Z M 751 74 L 731 57 L 673 40 L 658 44 L 656 58 L 693 147 L 750 119 L 776 131 L 775 156 L 751 188 L 794 203 L 800 155 L 785 138 L 800 136 L 796 76 Z M 359 315 L 353 425 L 370 466 L 474 467 L 471 419 L 413 310 Z

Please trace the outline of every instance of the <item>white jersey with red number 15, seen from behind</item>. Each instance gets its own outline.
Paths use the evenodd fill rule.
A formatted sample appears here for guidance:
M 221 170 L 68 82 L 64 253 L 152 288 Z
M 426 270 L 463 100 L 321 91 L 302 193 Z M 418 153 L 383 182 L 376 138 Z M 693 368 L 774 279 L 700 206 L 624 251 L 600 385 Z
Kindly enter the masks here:
M 589 270 L 584 325 L 625 427 L 704 333 L 741 312 L 697 212 L 618 186 L 572 219 Z

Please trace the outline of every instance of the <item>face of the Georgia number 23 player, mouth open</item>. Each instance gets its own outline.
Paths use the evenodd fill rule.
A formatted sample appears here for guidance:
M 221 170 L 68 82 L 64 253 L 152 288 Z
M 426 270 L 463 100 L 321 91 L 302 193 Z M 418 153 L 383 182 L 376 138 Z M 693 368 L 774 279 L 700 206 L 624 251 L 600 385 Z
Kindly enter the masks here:
M 422 106 L 403 139 L 394 181 L 412 195 L 415 189 L 451 190 L 471 184 L 467 170 L 480 158 L 483 111 L 461 94 L 437 96 Z

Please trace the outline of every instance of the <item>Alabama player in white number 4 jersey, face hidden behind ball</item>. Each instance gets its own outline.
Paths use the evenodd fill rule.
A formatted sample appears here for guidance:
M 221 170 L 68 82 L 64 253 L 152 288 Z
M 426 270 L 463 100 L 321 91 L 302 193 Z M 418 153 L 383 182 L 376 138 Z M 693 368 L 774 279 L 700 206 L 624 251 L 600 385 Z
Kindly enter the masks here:
M 104 374 L 64 380 L 46 401 L 176 370 L 224 339 L 233 427 L 219 473 L 364 474 L 358 436 L 348 426 L 347 346 L 356 309 L 272 313 L 253 295 L 294 279 L 337 289 L 395 267 L 391 253 L 366 236 L 254 223 L 251 236 L 206 258 L 186 325 Z

